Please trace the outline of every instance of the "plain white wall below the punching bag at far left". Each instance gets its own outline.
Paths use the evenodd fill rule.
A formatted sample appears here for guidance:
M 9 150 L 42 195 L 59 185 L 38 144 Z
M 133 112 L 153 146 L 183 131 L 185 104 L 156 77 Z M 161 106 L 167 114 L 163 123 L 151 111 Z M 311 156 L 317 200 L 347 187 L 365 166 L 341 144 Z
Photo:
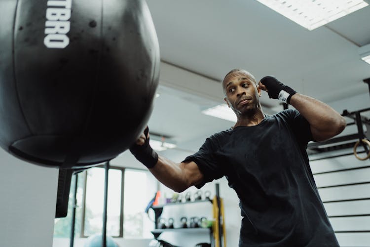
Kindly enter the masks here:
M 51 247 L 58 169 L 18 160 L 0 149 L 0 246 Z

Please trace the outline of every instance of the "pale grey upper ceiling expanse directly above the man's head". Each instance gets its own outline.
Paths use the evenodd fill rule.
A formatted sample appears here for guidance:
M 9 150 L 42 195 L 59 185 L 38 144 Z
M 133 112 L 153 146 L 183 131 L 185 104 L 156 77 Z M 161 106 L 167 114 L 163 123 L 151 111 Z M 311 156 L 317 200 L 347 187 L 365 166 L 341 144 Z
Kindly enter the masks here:
M 221 81 L 233 68 L 275 75 L 299 92 L 335 100 L 366 89 L 370 6 L 308 31 L 257 0 L 148 0 L 161 59 Z

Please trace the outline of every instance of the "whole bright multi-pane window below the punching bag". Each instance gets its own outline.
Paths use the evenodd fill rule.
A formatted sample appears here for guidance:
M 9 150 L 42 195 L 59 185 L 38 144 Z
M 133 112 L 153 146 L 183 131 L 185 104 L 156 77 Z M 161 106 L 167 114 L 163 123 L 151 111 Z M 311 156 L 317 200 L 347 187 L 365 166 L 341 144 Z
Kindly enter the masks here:
M 103 231 L 105 169 L 99 165 L 80 172 L 77 183 L 75 238 Z M 55 219 L 54 238 L 71 236 L 75 175 L 68 215 Z M 111 166 L 108 175 L 107 235 L 130 239 L 152 238 L 154 223 L 145 213 L 157 191 L 157 180 L 146 170 Z M 123 192 L 123 193 L 122 193 Z

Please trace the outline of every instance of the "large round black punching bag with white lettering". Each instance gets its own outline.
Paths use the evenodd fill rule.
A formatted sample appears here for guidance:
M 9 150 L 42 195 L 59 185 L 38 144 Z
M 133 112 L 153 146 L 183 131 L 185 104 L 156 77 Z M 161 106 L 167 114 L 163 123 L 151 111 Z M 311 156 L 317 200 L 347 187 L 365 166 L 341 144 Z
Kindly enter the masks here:
M 145 0 L 0 0 L 0 145 L 82 168 L 148 123 L 159 45 Z

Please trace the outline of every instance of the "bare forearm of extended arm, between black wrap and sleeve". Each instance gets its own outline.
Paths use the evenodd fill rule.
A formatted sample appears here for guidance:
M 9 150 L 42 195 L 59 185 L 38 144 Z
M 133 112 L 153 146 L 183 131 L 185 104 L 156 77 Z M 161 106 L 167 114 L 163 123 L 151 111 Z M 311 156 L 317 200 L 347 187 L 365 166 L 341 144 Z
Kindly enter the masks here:
M 186 181 L 183 166 L 185 164 L 177 164 L 169 159 L 158 156 L 158 162 L 154 167 L 149 168 L 149 171 L 168 188 L 182 192 L 187 189 L 191 184 Z

